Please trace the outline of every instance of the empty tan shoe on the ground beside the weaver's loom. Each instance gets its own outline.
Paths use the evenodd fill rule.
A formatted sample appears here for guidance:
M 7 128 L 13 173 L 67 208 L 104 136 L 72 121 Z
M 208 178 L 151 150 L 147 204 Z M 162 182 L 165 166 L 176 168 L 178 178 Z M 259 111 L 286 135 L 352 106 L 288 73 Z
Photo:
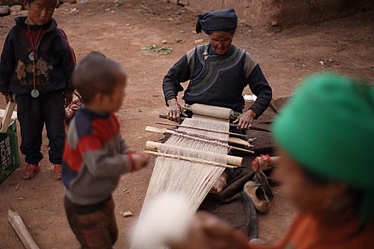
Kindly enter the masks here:
M 262 188 L 261 184 L 256 184 L 254 181 L 248 181 L 244 185 L 243 191 L 248 194 L 249 198 L 251 198 L 257 211 L 261 213 L 269 212 L 269 198 L 266 196 L 264 188 Z

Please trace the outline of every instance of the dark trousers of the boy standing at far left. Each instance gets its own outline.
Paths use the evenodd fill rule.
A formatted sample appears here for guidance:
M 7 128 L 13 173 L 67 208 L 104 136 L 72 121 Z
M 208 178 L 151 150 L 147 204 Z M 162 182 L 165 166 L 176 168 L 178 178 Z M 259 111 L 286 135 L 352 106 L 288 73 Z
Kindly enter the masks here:
M 28 164 L 38 164 L 41 154 L 41 133 L 46 124 L 49 139 L 49 161 L 61 164 L 65 142 L 65 97 L 62 91 L 46 95 L 16 95 L 17 118 L 21 127 L 21 152 Z

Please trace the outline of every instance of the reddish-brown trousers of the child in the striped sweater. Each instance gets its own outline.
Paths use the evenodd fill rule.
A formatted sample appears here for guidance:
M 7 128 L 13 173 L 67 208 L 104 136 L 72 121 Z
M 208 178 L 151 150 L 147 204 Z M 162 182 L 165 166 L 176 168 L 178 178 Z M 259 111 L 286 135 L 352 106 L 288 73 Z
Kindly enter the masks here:
M 65 196 L 69 225 L 82 248 L 112 248 L 118 238 L 112 196 L 93 205 L 77 205 Z

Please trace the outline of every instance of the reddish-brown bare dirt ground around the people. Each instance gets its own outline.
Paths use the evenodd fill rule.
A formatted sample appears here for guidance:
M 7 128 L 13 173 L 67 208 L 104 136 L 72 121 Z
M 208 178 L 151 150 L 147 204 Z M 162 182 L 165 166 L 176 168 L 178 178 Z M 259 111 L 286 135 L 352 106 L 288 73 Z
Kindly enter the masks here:
M 165 113 L 162 78 L 184 53 L 207 36 L 195 34 L 194 13 L 182 6 L 155 0 L 124 0 L 115 7 L 106 0 L 86 1 L 61 6 L 54 14 L 58 26 L 68 34 L 78 61 L 89 51 L 101 51 L 117 60 L 128 73 L 125 102 L 118 112 L 123 136 L 135 150 L 142 150 L 147 140 L 162 139 L 162 134 L 146 133 L 147 124 L 160 120 Z M 120 5 L 120 4 L 117 4 Z M 74 10 L 76 9 L 76 10 Z M 109 10 L 108 10 L 109 9 Z M 14 16 L 0 18 L 0 43 L 3 44 Z M 175 39 L 182 42 L 176 43 Z M 140 48 L 157 44 L 173 48 L 172 53 L 145 53 Z M 374 13 L 363 13 L 314 26 L 293 26 L 273 33 L 261 33 L 249 26 L 239 26 L 234 44 L 246 49 L 261 65 L 274 90 L 274 99 L 292 94 L 304 75 L 322 70 L 374 78 Z M 323 64 L 323 65 L 321 65 Z M 246 89 L 245 94 L 249 94 Z M 0 108 L 5 109 L 4 100 Z M 261 139 L 261 137 L 258 137 Z M 20 140 L 19 140 L 20 141 Z M 48 155 L 44 135 L 43 154 Z M 21 167 L 25 165 L 20 155 Z M 22 243 L 7 221 L 9 208 L 24 219 L 41 248 L 78 248 L 78 242 L 66 221 L 63 209 L 63 184 L 53 179 L 48 157 L 31 181 L 21 180 L 19 169 L 0 184 L 0 248 L 22 248 Z M 21 168 L 19 167 L 19 168 Z M 133 174 L 125 174 L 115 191 L 115 205 L 120 235 L 115 248 L 129 248 L 128 228 L 140 213 L 150 166 Z M 19 189 L 16 190 L 17 184 Z M 259 238 L 274 243 L 287 230 L 294 208 L 284 191 L 274 188 L 271 211 L 259 216 Z M 306 193 L 307 194 L 307 193 Z M 120 216 L 131 211 L 135 216 Z

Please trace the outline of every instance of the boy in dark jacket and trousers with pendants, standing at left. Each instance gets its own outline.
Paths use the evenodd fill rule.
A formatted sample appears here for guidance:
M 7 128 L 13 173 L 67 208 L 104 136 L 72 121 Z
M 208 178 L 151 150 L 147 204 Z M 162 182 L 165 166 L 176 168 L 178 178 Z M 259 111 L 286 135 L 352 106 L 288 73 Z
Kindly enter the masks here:
M 0 63 L 0 92 L 6 102 L 16 94 L 21 127 L 21 152 L 26 167 L 22 179 L 32 179 L 40 169 L 42 131 L 46 124 L 55 178 L 61 179 L 65 140 L 65 105 L 73 99 L 71 75 L 75 55 L 66 34 L 52 18 L 56 0 L 27 0 L 28 16 L 17 17 L 6 37 Z

